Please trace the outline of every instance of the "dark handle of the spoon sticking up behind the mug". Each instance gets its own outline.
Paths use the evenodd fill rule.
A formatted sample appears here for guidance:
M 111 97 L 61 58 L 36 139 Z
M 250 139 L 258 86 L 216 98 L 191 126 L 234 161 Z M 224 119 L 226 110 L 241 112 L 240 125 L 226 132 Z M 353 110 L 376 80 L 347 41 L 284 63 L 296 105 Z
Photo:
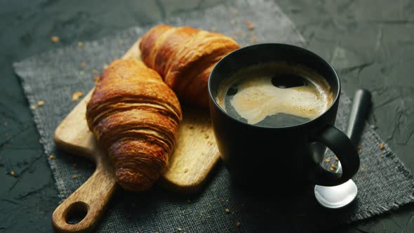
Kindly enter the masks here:
M 354 101 L 352 102 L 351 115 L 347 128 L 347 136 L 354 145 L 358 145 L 361 138 L 361 131 L 369 112 L 371 102 L 371 93 L 366 89 L 359 89 L 355 92 Z

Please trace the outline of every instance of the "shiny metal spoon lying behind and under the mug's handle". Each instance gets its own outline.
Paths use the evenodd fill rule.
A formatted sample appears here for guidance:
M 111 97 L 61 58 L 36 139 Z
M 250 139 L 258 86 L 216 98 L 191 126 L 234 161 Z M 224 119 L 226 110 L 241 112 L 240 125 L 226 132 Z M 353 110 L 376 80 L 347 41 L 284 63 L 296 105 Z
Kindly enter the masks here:
M 370 105 L 371 94 L 365 89 L 359 89 L 354 95 L 354 101 L 352 102 L 352 111 L 349 116 L 349 123 L 347 128 L 347 135 L 354 143 L 358 145 L 359 138 L 361 137 L 361 131 L 364 126 L 366 114 Z M 342 171 L 340 161 L 338 161 L 337 173 Z M 316 200 L 326 208 L 342 208 L 349 205 L 354 201 L 358 187 L 355 182 L 348 180 L 342 185 L 337 186 L 321 186 L 315 185 L 315 197 Z

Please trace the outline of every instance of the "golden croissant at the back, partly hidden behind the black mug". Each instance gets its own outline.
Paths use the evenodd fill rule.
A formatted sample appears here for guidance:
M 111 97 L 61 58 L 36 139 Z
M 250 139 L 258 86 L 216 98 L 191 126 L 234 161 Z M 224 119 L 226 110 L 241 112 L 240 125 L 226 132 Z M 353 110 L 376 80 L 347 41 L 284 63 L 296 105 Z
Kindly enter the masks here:
M 208 107 L 207 82 L 215 64 L 239 48 L 229 36 L 192 27 L 158 25 L 140 42 L 142 61 L 190 105 Z

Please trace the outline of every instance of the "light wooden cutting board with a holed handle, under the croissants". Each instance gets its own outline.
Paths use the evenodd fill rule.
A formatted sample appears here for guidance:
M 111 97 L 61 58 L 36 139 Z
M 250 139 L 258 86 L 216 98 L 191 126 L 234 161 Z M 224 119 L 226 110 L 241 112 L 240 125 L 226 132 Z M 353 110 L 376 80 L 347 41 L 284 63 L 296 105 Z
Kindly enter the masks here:
M 140 60 L 140 40 L 123 58 Z M 105 211 L 108 201 L 116 190 L 112 165 L 105 152 L 98 147 L 95 136 L 86 123 L 86 103 L 93 90 L 79 102 L 55 131 L 55 144 L 59 149 L 92 159 L 96 169 L 91 178 L 79 187 L 53 213 L 53 227 L 58 232 L 89 232 Z M 169 160 L 168 170 L 159 180 L 161 185 L 174 192 L 197 192 L 208 173 L 220 159 L 214 142 L 213 128 L 208 112 L 202 109 L 182 107 L 180 136 Z M 70 215 L 84 213 L 77 224 L 67 223 Z

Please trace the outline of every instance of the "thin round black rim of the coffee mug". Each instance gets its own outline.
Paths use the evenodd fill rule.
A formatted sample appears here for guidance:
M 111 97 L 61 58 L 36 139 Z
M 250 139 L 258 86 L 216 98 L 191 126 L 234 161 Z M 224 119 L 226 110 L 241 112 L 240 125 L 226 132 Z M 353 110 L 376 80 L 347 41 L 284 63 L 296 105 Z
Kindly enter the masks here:
M 319 116 L 317 116 L 316 118 L 306 121 L 302 124 L 297 124 L 297 125 L 293 125 L 293 126 L 257 126 L 257 125 L 253 125 L 253 124 L 248 124 L 245 123 L 243 121 L 239 121 L 238 119 L 234 118 L 233 116 L 229 115 L 225 109 L 222 109 L 222 107 L 220 107 L 220 105 L 218 105 L 218 102 L 215 100 L 215 98 L 213 97 L 213 93 L 211 91 L 211 79 L 212 76 L 214 75 L 215 69 L 218 67 L 218 65 L 220 65 L 220 62 L 222 62 L 223 60 L 227 60 L 229 59 L 230 56 L 236 54 L 236 53 L 241 53 L 240 51 L 243 51 L 246 48 L 252 48 L 252 47 L 259 47 L 259 46 L 281 46 L 281 47 L 290 47 L 293 49 L 297 49 L 301 52 L 305 52 L 305 53 L 309 53 L 310 55 L 314 56 L 315 58 L 321 60 L 323 63 L 325 63 L 328 67 L 328 69 L 330 69 L 331 72 L 333 72 L 333 74 L 335 75 L 335 81 L 338 85 L 338 93 L 336 93 L 335 98 L 333 98 L 332 103 L 330 103 L 330 106 Z M 270 61 L 269 61 L 270 62 Z M 312 69 L 312 68 L 311 68 Z M 231 53 L 225 55 L 222 59 L 220 59 L 217 64 L 215 64 L 215 66 L 213 67 L 213 69 L 210 72 L 210 75 L 208 76 L 208 96 L 211 99 L 211 101 L 213 102 L 213 104 L 215 105 L 216 108 L 219 109 L 220 112 L 222 112 L 222 114 L 225 114 L 226 116 L 228 116 L 230 119 L 232 119 L 233 121 L 236 121 L 239 124 L 243 124 L 245 126 L 249 126 L 249 127 L 253 127 L 253 128 L 265 128 L 265 129 L 288 129 L 288 128 L 300 128 L 300 127 L 304 127 L 307 126 L 309 124 L 312 124 L 314 121 L 317 121 L 318 119 L 320 119 L 323 115 L 326 114 L 326 112 L 329 112 L 331 108 L 333 108 L 333 106 L 335 105 L 335 102 L 338 101 L 339 97 L 340 97 L 340 92 L 341 92 L 341 83 L 340 83 L 340 79 L 338 76 L 338 73 L 336 72 L 336 70 L 333 68 L 332 65 L 330 65 L 330 63 L 323 59 L 320 55 L 317 55 L 316 53 L 309 51 L 306 48 L 300 47 L 300 46 L 295 46 L 293 44 L 283 44 L 283 43 L 262 43 L 262 44 L 253 44 L 250 46 L 244 46 L 242 48 L 238 48 L 235 51 L 232 51 Z

